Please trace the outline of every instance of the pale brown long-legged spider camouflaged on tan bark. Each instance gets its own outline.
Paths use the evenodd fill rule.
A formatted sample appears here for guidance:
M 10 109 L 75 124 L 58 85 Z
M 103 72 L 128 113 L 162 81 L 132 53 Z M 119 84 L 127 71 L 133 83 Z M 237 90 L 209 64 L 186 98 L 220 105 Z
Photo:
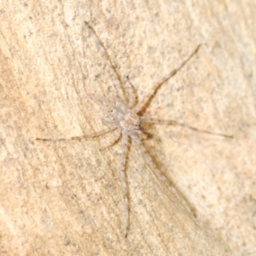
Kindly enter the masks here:
M 200 131 L 200 132 L 213 134 L 217 136 L 222 136 L 222 137 L 232 137 L 232 136 L 221 134 L 221 133 L 214 133 L 211 131 L 202 131 L 190 125 L 178 123 L 177 121 L 174 121 L 174 120 L 152 119 L 142 114 L 143 110 L 147 108 L 148 103 L 154 97 L 154 94 L 156 93 L 156 91 L 160 88 L 160 85 L 164 84 L 168 79 L 171 79 L 172 76 L 174 76 L 198 52 L 201 44 L 199 44 L 195 48 L 195 50 L 189 55 L 189 57 L 187 57 L 177 68 L 173 69 L 172 72 L 167 74 L 166 77 L 160 80 L 160 82 L 158 82 L 157 84 L 154 84 L 151 90 L 148 91 L 148 94 L 143 97 L 143 100 L 141 102 L 137 102 L 135 107 L 132 107 L 134 105 L 134 98 L 132 98 L 129 101 L 125 99 L 125 94 L 121 87 L 121 84 L 123 84 L 123 82 L 120 79 L 119 73 L 116 71 L 116 68 L 113 66 L 113 62 L 111 61 L 108 55 L 107 49 L 105 48 L 104 44 L 102 44 L 102 40 L 98 37 L 95 29 L 92 26 L 90 26 L 88 22 L 84 21 L 84 23 L 86 24 L 86 26 L 89 27 L 90 31 L 93 32 L 93 34 L 95 35 L 96 40 L 99 42 L 104 55 L 108 59 L 108 64 L 112 68 L 113 73 L 117 78 L 117 83 L 113 83 L 118 92 L 118 96 L 116 98 L 112 99 L 105 96 L 87 94 L 88 99 L 91 102 L 95 103 L 96 106 L 100 109 L 102 119 L 107 121 L 108 128 L 103 129 L 102 131 L 96 131 L 91 134 L 83 135 L 79 137 L 36 138 L 36 140 L 41 140 L 41 141 L 78 140 L 83 138 L 86 139 L 91 137 L 101 137 L 102 135 L 105 135 L 108 132 L 115 131 L 115 130 L 119 131 L 118 138 L 115 139 L 114 142 L 109 143 L 107 146 L 104 146 L 104 148 L 101 148 L 101 149 L 105 149 L 112 146 L 114 143 L 117 143 L 119 139 L 122 144 L 123 152 L 122 152 L 122 158 L 120 162 L 120 180 L 121 180 L 121 186 L 123 190 L 124 204 L 125 204 L 125 237 L 127 237 L 129 226 L 130 226 L 130 216 L 129 216 L 127 181 L 125 178 L 125 166 L 127 161 L 128 143 L 130 143 L 130 140 L 136 143 L 138 148 L 140 148 L 146 164 L 154 171 L 154 174 L 157 177 L 159 177 L 162 182 L 166 183 L 167 187 L 170 187 L 170 183 L 168 179 L 154 165 L 153 160 L 151 159 L 151 157 L 149 156 L 149 154 L 147 153 L 146 149 L 143 146 L 142 142 L 143 142 L 143 139 L 146 137 L 146 135 L 143 133 L 143 130 L 141 129 L 142 128 L 141 125 L 143 123 L 178 125 L 193 131 Z M 132 85 L 128 77 L 126 78 L 126 82 Z

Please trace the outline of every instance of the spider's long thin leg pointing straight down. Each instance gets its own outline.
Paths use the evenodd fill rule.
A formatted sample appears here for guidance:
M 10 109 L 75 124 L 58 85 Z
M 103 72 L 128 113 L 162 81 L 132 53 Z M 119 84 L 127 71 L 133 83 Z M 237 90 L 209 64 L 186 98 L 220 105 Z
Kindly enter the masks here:
M 124 196 L 124 205 L 125 205 L 125 237 L 127 237 L 128 229 L 129 229 L 129 202 L 128 202 L 128 189 L 127 189 L 127 180 L 125 176 L 125 166 L 126 166 L 126 158 L 128 151 L 128 135 L 126 133 L 122 133 L 122 148 L 123 155 L 121 159 L 121 168 L 120 168 L 120 179 Z

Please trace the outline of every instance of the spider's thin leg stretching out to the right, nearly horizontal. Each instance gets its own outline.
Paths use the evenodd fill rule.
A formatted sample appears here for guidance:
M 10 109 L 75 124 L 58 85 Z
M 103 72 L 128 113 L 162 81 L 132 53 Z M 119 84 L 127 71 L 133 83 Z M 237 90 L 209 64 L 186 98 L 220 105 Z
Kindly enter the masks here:
M 207 134 L 221 136 L 221 137 L 227 137 L 227 138 L 232 138 L 233 137 L 231 135 L 227 135 L 227 134 L 224 134 L 224 133 L 201 130 L 201 129 L 195 128 L 193 126 L 190 126 L 190 125 L 179 123 L 179 122 L 174 121 L 174 120 L 152 119 L 152 118 L 149 118 L 149 117 L 146 117 L 146 116 L 142 116 L 141 121 L 144 122 L 144 123 L 151 123 L 151 124 L 176 125 L 176 126 L 181 126 L 183 128 L 186 128 L 186 129 L 189 129 L 189 130 L 192 130 L 192 131 L 199 131 L 201 133 L 207 133 Z

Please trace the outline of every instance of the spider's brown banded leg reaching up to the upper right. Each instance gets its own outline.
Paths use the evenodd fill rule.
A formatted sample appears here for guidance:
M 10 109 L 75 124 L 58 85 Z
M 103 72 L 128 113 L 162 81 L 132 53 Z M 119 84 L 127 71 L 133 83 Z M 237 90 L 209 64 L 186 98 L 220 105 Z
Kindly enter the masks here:
M 143 100 L 137 103 L 137 106 L 134 108 L 136 113 L 140 112 L 143 108 L 147 107 L 147 103 L 150 102 L 156 91 L 160 88 L 160 85 L 164 84 L 168 79 L 171 79 L 172 76 L 175 75 L 193 57 L 193 55 L 196 54 L 200 46 L 201 44 L 199 44 L 195 48 L 195 50 L 189 55 L 189 57 L 185 61 L 182 62 L 182 64 L 179 67 L 173 69 L 172 72 L 166 75 L 166 77 L 164 77 L 163 79 L 161 79 L 160 82 L 154 84 L 154 86 L 151 88 L 151 90 L 149 90 L 148 94 L 143 98 Z

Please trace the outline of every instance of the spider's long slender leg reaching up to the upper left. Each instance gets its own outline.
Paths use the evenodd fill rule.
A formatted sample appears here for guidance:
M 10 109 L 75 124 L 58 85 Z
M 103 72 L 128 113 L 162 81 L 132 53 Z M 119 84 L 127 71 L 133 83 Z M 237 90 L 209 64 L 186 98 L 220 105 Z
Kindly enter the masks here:
M 116 88 L 116 90 L 118 91 L 118 95 L 119 97 L 122 99 L 123 102 L 126 103 L 126 100 L 125 100 L 125 94 L 124 94 L 124 91 L 123 91 L 123 88 L 121 87 L 121 78 L 119 76 L 119 73 L 117 72 L 116 68 L 113 66 L 113 63 L 110 59 L 110 56 L 108 55 L 108 51 L 107 49 L 105 48 L 104 44 L 102 43 L 102 40 L 98 37 L 95 29 L 90 26 L 90 24 L 87 22 L 87 21 L 84 21 L 84 23 L 86 24 L 86 26 L 88 26 L 90 28 L 90 30 L 94 33 L 94 35 L 96 36 L 96 39 L 98 41 L 98 43 L 100 44 L 101 46 L 101 51 L 102 51 L 102 54 L 106 56 L 107 60 L 108 60 L 108 65 L 110 67 L 110 72 L 111 74 L 114 74 L 115 76 L 115 80 L 113 81 L 113 84 Z

